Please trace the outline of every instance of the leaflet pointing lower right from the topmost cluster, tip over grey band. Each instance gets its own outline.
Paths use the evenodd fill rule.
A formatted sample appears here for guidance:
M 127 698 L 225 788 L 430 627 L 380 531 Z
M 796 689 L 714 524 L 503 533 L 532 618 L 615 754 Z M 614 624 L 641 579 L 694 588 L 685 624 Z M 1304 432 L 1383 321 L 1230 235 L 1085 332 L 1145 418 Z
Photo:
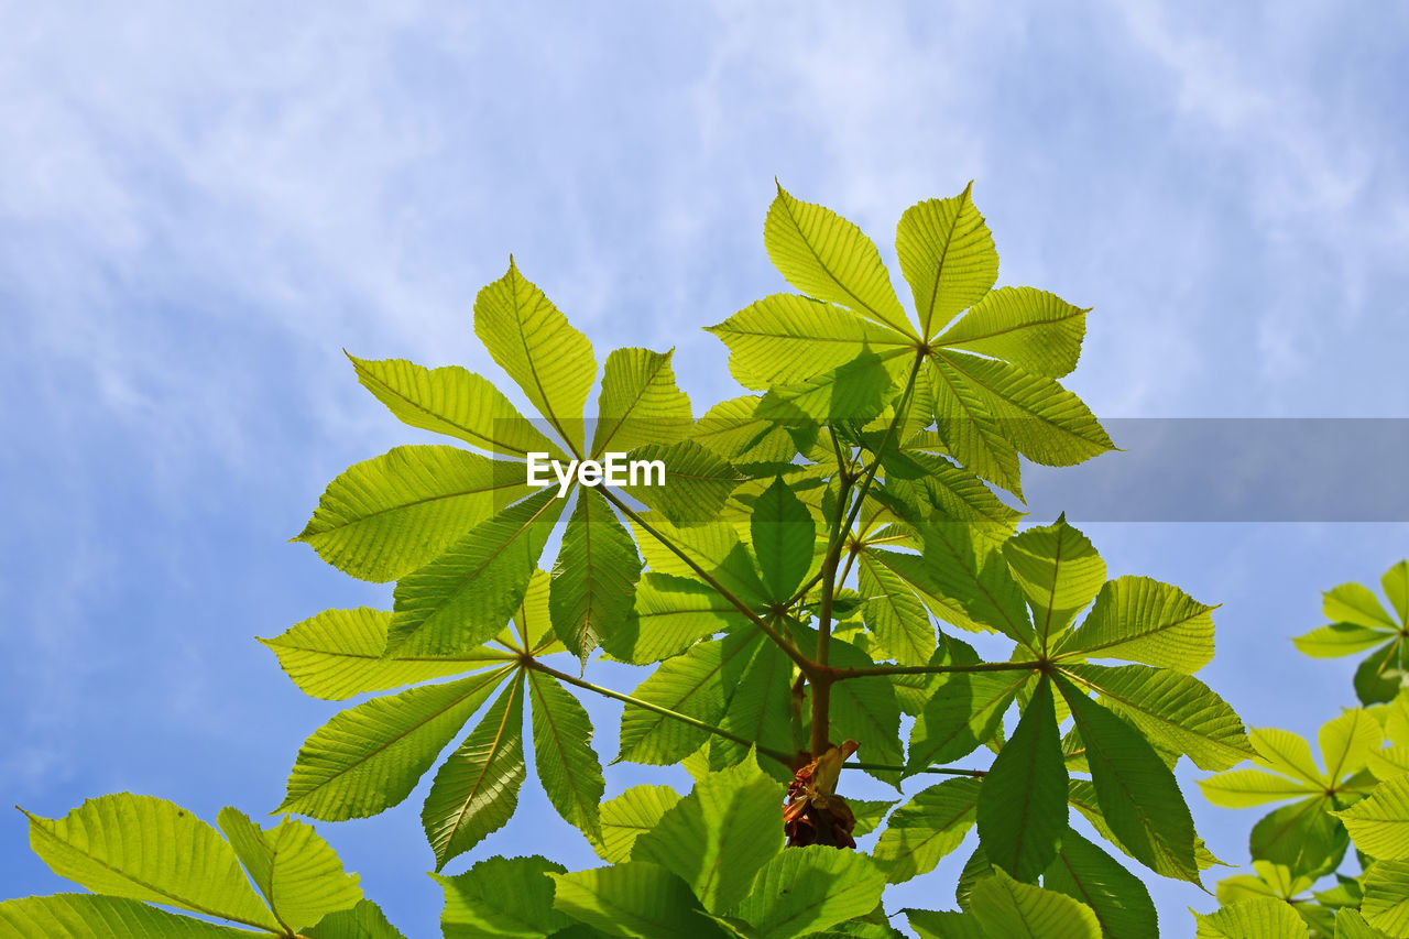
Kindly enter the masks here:
M 951 393 L 978 400 L 993 430 L 1033 462 L 1071 467 L 1116 447 L 1091 409 L 1051 378 L 967 352 L 936 352 L 931 361 L 945 386 L 962 389 Z M 940 430 L 950 438 L 945 427 Z

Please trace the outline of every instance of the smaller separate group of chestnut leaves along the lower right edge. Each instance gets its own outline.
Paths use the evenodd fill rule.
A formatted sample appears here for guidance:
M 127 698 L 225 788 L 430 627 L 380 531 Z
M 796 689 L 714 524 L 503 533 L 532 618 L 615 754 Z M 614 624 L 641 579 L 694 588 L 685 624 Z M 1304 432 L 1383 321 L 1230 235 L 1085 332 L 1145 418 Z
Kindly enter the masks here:
M 1275 806 L 1248 839 L 1254 873 L 1219 883 L 1200 938 L 1409 936 L 1409 561 L 1379 582 L 1388 605 L 1341 584 L 1323 596 L 1330 622 L 1296 639 L 1313 658 L 1374 650 L 1355 670 L 1358 706 L 1316 735 L 1320 759 L 1291 730 L 1257 728 L 1251 767 L 1200 780 L 1215 805 Z

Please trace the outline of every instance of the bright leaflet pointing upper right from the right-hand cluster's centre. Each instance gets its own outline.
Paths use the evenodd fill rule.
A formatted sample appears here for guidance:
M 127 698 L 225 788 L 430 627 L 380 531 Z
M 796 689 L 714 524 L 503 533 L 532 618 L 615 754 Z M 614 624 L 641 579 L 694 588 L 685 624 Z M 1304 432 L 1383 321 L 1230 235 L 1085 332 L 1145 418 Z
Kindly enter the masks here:
M 1171 584 L 1117 577 L 1100 588 L 1079 629 L 1057 643 L 1057 657 L 1126 658 L 1193 674 L 1213 658 L 1213 616 Z

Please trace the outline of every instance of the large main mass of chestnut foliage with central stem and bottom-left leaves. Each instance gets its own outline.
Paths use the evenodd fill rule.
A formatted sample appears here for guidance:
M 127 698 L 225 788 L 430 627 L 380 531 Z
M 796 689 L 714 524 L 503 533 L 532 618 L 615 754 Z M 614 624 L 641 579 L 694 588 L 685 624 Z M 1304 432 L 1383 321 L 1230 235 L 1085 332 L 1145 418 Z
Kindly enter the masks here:
M 392 415 L 452 441 L 348 468 L 297 536 L 395 582 L 390 609 L 262 640 L 306 694 L 359 702 L 299 749 L 278 826 L 127 794 L 34 816 L 34 849 L 92 892 L 0 904 L 0 936 L 396 936 L 292 816 L 366 818 L 430 777 L 438 871 L 530 774 L 603 866 L 434 874 L 445 936 L 896 936 L 888 884 L 961 847 L 957 890 L 936 891 L 952 908 L 905 911 L 921 936 L 1157 935 L 1141 877 L 1216 863 L 1172 767 L 1265 753 L 1195 677 L 1212 606 L 1107 578 L 1064 517 L 1019 532 L 1020 455 L 1113 448 L 1060 381 L 1086 310 L 995 286 L 969 189 L 900 219 L 909 309 L 821 206 L 779 189 L 764 241 L 796 292 L 709 327 L 747 393 L 699 416 L 669 351 L 599 368 L 513 261 L 473 329 L 535 415 L 462 368 L 354 358 Z M 665 485 L 528 485 L 528 454 L 609 453 L 664 462 Z M 612 688 L 602 660 L 651 671 Z M 604 799 L 583 695 L 621 702 L 616 761 L 682 763 L 693 790 Z M 848 801 L 858 773 L 924 785 Z

